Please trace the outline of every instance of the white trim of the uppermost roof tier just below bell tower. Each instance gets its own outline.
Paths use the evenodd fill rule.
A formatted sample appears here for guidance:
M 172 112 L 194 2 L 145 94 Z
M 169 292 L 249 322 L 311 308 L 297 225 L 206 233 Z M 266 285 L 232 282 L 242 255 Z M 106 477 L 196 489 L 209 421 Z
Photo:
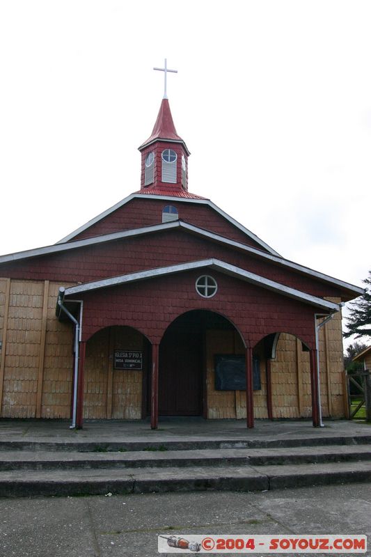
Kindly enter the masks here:
M 113 207 L 110 207 L 109 209 L 102 212 L 101 214 L 98 214 L 97 217 L 94 217 L 94 219 L 91 219 L 86 224 L 83 224 L 83 226 L 80 226 L 80 228 L 77 228 L 77 230 L 74 230 L 74 232 L 70 233 L 68 236 L 65 236 L 64 238 L 62 238 L 62 240 L 59 240 L 56 243 L 57 244 L 62 244 L 63 242 L 68 242 L 69 240 L 72 240 L 72 238 L 81 234 L 82 232 L 84 232 L 84 230 L 86 230 L 90 226 L 93 226 L 93 224 L 101 221 L 102 219 L 104 219 L 104 217 L 107 217 L 113 211 L 116 211 L 116 210 L 120 209 L 120 207 L 123 207 L 123 205 L 126 205 L 126 203 L 129 203 L 129 201 L 132 201 L 132 199 L 143 199 L 143 198 L 144 199 L 162 199 L 163 201 L 173 201 L 173 202 L 177 201 L 177 202 L 180 202 L 180 203 L 198 203 L 200 205 L 208 205 L 209 207 L 214 209 L 214 211 L 219 213 L 221 215 L 221 217 L 224 217 L 224 219 L 227 219 L 227 221 L 229 221 L 231 224 L 233 224 L 233 226 L 235 226 L 236 228 L 239 228 L 239 230 L 241 230 L 244 234 L 246 234 L 246 236 L 250 237 L 251 240 L 254 240 L 254 242 L 257 242 L 258 244 L 260 244 L 260 246 L 262 246 L 264 249 L 267 249 L 269 251 L 269 253 L 272 253 L 275 256 L 279 256 L 279 253 L 274 251 L 274 249 L 272 249 L 268 244 L 266 244 L 265 242 L 260 240 L 260 238 L 257 235 L 253 234 L 251 232 L 251 230 L 248 230 L 241 223 L 237 222 L 235 219 L 232 219 L 232 217 L 230 217 L 229 214 L 227 214 L 223 210 L 219 209 L 219 207 L 217 207 L 217 205 L 212 203 L 212 201 L 210 201 L 210 199 L 189 199 L 189 198 L 176 197 L 176 196 L 157 196 L 157 195 L 153 195 L 153 194 L 131 194 L 131 195 L 125 197 L 125 199 L 123 199 L 122 201 L 119 201 L 118 203 L 116 203 L 116 205 L 113 205 Z

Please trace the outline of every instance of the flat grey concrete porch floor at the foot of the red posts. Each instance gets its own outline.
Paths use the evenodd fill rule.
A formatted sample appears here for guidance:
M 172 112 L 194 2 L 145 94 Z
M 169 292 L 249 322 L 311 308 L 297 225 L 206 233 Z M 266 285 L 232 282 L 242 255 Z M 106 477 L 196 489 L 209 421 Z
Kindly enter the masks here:
M 324 427 L 313 427 L 310 420 L 255 420 L 246 428 L 245 420 L 205 420 L 203 418 L 161 418 L 157 430 L 148 420 L 86 421 L 82 430 L 70 430 L 65 420 L 0 419 L 0 443 L 6 441 L 39 441 L 51 443 L 97 443 L 143 441 L 191 441 L 243 439 L 245 441 L 277 441 L 282 439 L 346 438 L 371 436 L 371 424 L 347 420 L 324 421 Z M 371 441 L 371 437 L 370 437 Z

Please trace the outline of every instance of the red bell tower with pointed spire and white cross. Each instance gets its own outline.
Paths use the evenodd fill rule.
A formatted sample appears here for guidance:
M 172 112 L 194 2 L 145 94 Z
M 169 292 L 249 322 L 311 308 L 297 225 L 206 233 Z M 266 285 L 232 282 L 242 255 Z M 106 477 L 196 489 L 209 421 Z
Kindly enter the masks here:
M 141 152 L 141 191 L 148 194 L 180 196 L 188 190 L 188 157 L 190 152 L 177 134 L 166 94 L 166 60 L 164 98 L 150 137 L 139 147 Z

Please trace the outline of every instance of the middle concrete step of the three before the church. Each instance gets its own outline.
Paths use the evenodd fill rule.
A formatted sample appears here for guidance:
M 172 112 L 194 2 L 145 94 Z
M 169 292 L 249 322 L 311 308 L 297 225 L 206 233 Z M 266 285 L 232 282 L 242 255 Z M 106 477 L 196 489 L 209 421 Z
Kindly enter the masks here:
M 140 450 L 93 453 L 49 450 L 3 450 L 0 471 L 126 469 L 194 466 L 267 466 L 324 462 L 371 461 L 371 445 L 331 445 L 279 448 L 218 448 L 193 450 Z

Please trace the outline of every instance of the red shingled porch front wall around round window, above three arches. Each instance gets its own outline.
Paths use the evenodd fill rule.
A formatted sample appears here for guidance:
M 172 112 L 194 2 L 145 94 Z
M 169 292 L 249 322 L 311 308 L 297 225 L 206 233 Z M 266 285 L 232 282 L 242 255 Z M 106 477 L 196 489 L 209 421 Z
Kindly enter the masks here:
M 308 304 L 214 271 L 211 274 L 218 282 L 218 295 L 204 299 L 195 288 L 200 274 L 202 270 L 182 272 L 108 291 L 85 292 L 81 295 L 86 301 L 83 339 L 104 326 L 127 324 L 152 343 L 159 343 L 175 317 L 191 309 L 209 309 L 226 315 L 251 346 L 280 329 L 314 345 L 313 308 Z

